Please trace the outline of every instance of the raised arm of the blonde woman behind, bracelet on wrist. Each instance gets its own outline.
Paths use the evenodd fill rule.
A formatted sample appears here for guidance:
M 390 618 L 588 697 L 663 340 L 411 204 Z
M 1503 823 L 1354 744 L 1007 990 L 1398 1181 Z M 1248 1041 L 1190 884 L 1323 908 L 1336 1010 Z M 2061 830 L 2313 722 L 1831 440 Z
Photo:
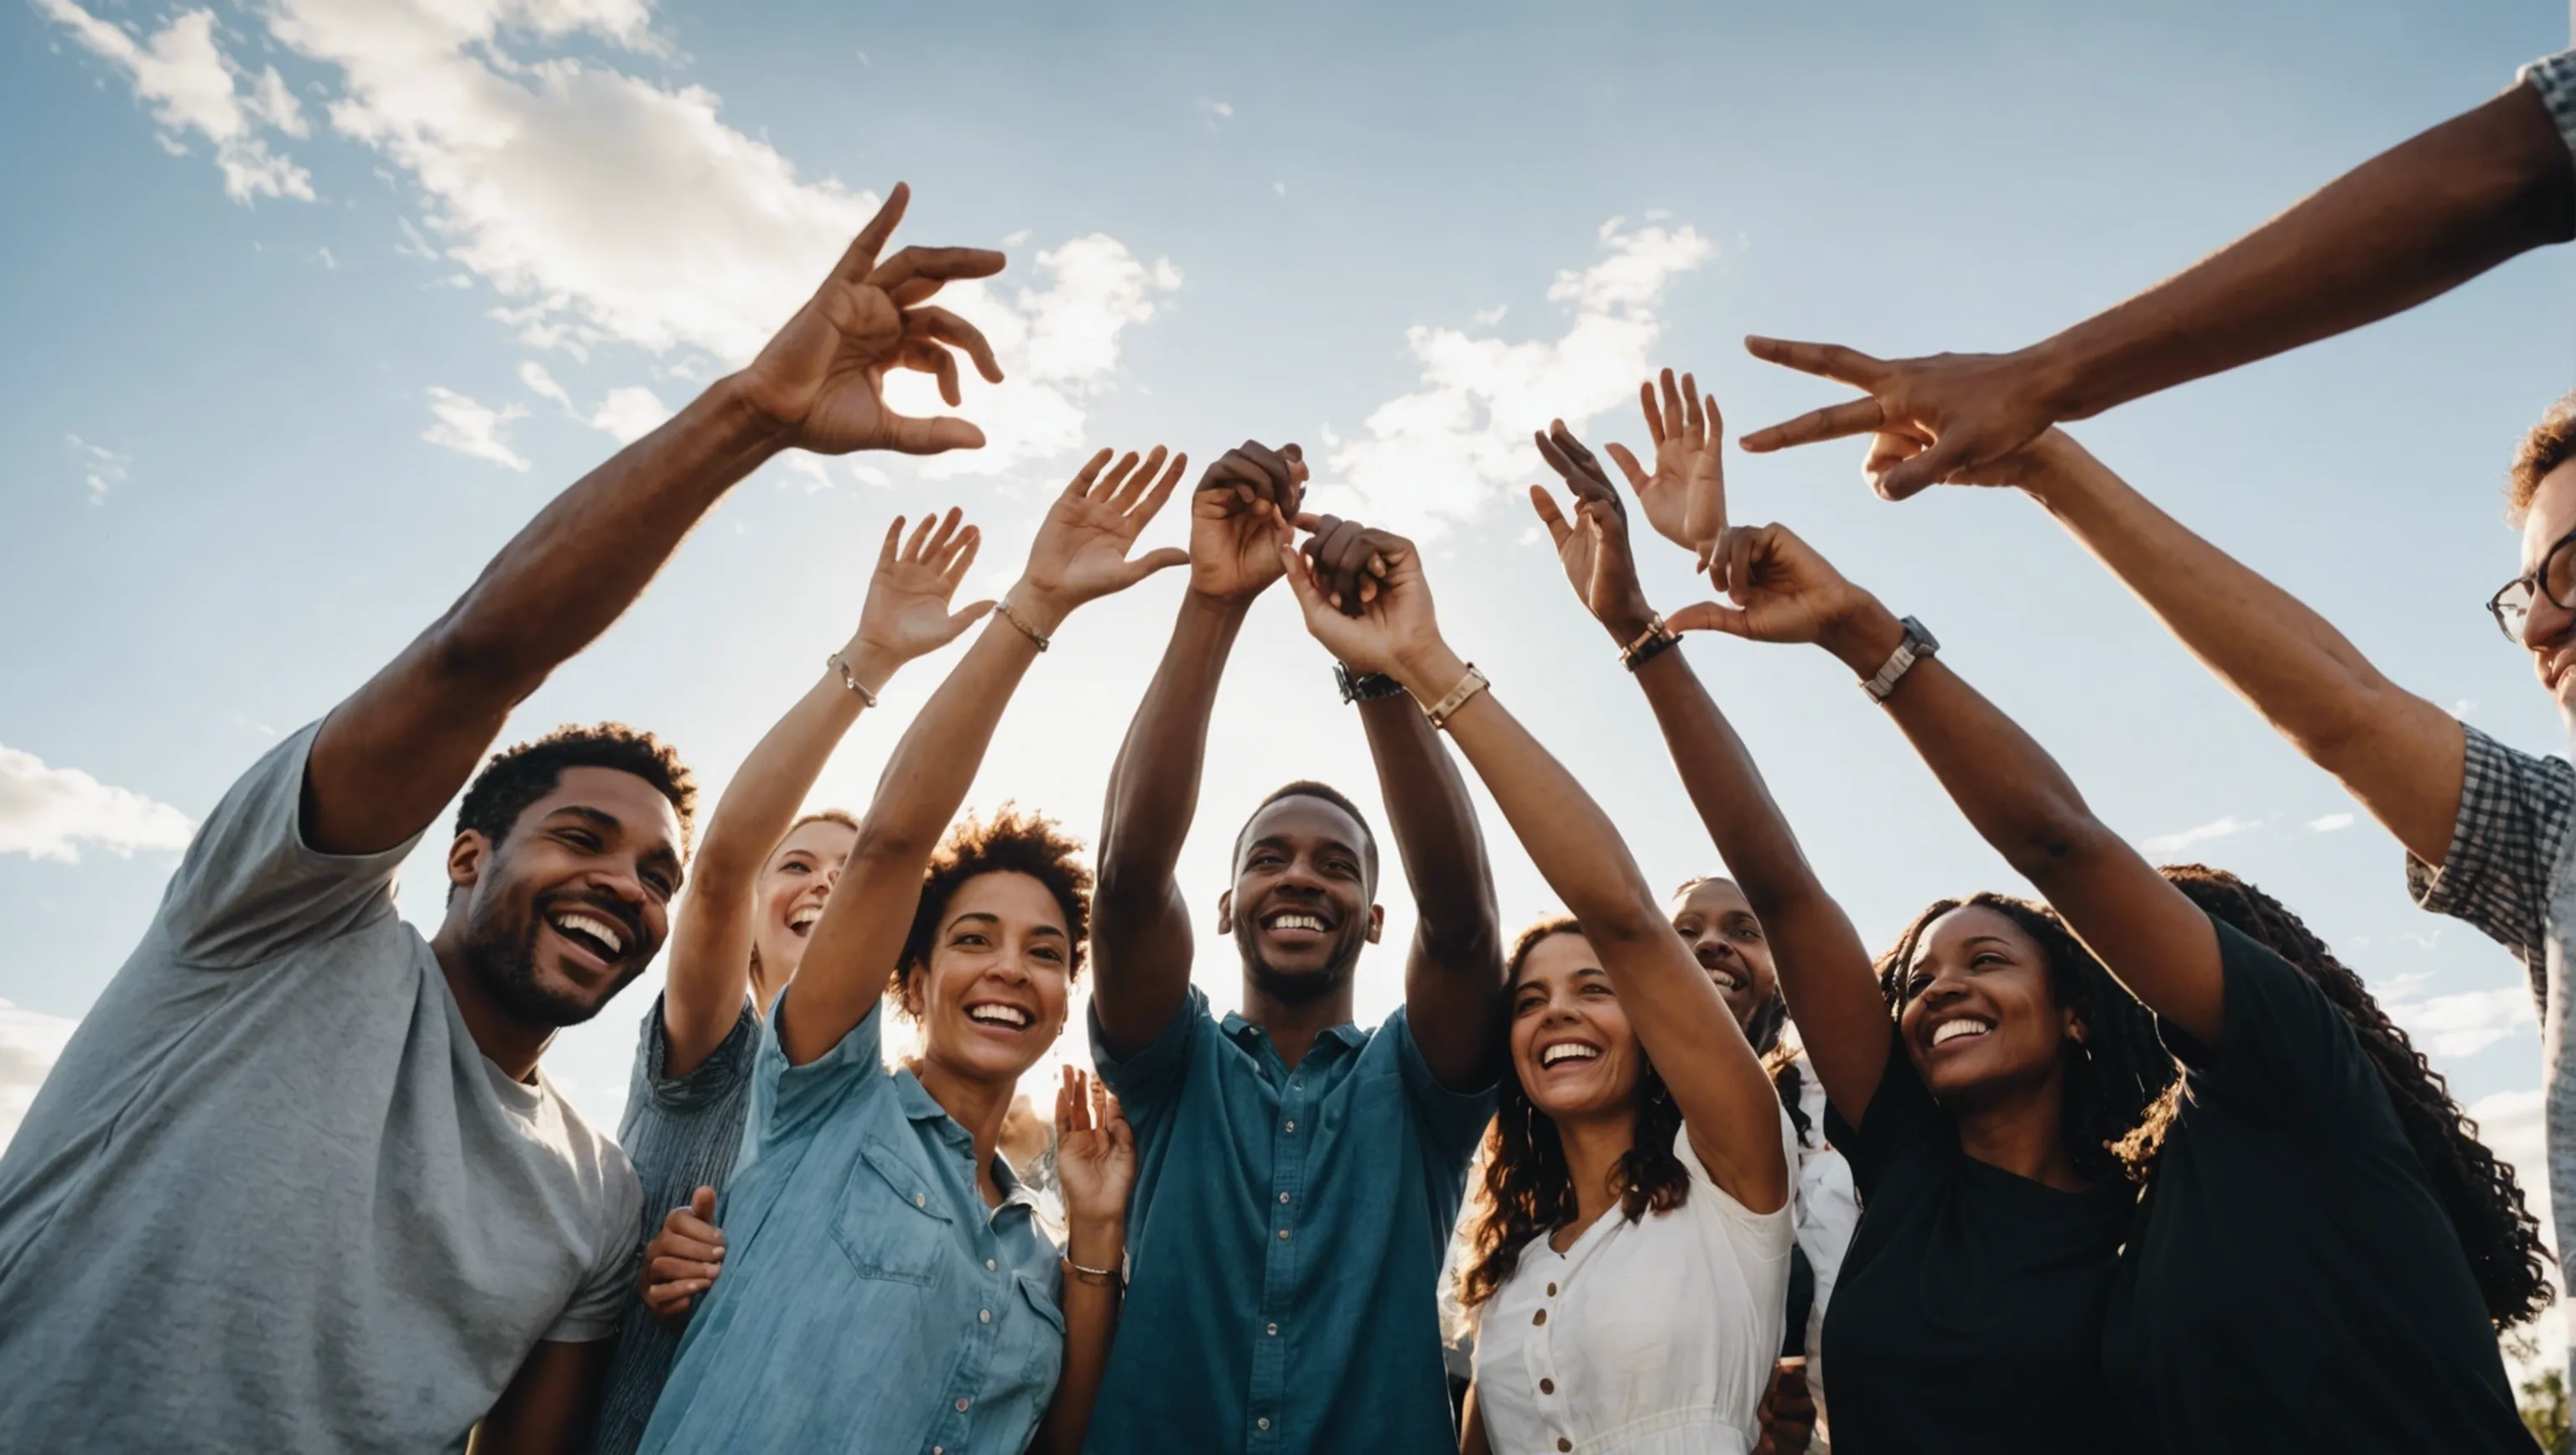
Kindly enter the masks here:
M 938 652 L 974 626 L 989 600 L 951 613 L 979 533 L 958 512 L 925 515 L 904 541 L 904 518 L 886 525 L 858 631 L 835 652 L 788 716 L 752 747 L 724 785 L 688 873 L 688 904 L 670 935 L 662 1074 L 685 1076 L 714 1056 L 742 1015 L 750 984 L 760 870 L 822 778 L 842 734 L 904 662 Z M 762 1007 L 768 1009 L 768 1007 Z

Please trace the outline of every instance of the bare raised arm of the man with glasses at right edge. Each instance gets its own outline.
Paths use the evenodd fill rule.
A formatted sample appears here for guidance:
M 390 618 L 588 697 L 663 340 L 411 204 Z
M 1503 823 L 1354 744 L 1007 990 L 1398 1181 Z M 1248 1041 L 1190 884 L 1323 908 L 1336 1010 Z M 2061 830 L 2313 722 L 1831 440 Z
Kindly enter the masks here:
M 1911 448 L 1880 443 L 1880 453 Z M 2460 816 L 2458 718 L 2383 677 L 2326 618 L 2187 530 L 2061 430 L 1973 479 L 2017 484 L 2045 505 L 2202 667 L 2414 858 L 2442 865 Z

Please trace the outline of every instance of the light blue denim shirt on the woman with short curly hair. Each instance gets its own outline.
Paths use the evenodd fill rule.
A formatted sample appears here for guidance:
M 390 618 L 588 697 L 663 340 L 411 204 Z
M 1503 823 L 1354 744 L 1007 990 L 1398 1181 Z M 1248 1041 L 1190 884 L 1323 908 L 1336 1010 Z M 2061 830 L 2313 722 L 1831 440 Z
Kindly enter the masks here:
M 793 986 L 791 991 L 793 994 Z M 997 1156 L 878 1058 L 884 1007 L 806 1066 L 760 1035 L 724 1275 L 647 1452 L 1020 1455 L 1064 1365 L 1056 1246 Z

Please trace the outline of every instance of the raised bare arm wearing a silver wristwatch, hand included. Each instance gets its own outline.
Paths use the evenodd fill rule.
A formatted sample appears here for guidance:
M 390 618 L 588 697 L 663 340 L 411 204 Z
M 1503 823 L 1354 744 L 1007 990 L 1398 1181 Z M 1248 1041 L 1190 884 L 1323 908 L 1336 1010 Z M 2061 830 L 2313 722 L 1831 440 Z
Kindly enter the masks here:
M 1695 626 L 1754 641 L 1811 641 L 1862 680 L 1906 641 L 1896 613 L 1842 579 L 1785 525 L 1728 528 L 1716 577 L 1734 605 L 1698 608 Z M 2094 819 L 2058 762 L 1940 657 L 1917 657 L 1886 708 L 1976 832 L 2066 917 L 2102 966 L 2148 1009 L 2221 1046 L 2226 976 L 2208 914 Z

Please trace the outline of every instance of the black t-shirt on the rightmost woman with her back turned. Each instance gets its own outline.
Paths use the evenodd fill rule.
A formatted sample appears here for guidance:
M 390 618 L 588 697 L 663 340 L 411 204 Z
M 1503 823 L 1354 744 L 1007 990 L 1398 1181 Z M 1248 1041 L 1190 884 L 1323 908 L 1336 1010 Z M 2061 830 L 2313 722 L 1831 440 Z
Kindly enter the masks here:
M 2468 1254 L 2352 1025 L 2228 925 L 2218 955 L 2226 1046 L 2161 1022 L 2184 1097 L 2102 1334 L 2120 1406 L 2192 1455 L 2527 1455 Z

